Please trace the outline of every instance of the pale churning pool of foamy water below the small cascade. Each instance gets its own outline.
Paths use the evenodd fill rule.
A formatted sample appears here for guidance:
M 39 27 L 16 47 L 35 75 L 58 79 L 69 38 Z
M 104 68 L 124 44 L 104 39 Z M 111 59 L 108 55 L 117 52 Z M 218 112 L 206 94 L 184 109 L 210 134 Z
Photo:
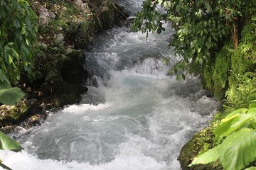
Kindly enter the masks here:
M 166 93 L 170 84 L 188 82 L 127 70 L 111 75 L 101 87 L 105 103 L 50 115 L 18 137 L 25 151 L 0 152 L 4 163 L 12 169 L 179 169 L 182 145 L 210 118 L 191 111 L 193 101 L 177 89 Z M 198 98 L 206 108 L 210 100 Z

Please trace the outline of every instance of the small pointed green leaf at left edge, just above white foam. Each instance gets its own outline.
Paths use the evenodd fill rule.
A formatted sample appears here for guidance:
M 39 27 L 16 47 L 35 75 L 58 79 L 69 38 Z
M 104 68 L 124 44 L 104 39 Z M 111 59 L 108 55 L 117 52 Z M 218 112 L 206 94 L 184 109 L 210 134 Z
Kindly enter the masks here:
M 21 151 L 22 147 L 18 142 L 0 131 L 0 149 L 18 152 Z

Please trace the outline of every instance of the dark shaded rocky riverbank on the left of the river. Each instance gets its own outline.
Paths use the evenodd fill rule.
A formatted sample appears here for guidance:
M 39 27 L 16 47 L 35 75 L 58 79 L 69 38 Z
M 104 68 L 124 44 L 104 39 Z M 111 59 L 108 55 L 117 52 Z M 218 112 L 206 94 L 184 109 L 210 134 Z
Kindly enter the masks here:
M 31 1 L 31 6 L 38 14 L 33 74 L 21 76 L 18 86 L 26 92 L 21 102 L 0 106 L 4 132 L 41 124 L 46 111 L 78 103 L 87 86 L 97 86 L 82 50 L 97 33 L 122 26 L 129 16 L 110 0 Z

